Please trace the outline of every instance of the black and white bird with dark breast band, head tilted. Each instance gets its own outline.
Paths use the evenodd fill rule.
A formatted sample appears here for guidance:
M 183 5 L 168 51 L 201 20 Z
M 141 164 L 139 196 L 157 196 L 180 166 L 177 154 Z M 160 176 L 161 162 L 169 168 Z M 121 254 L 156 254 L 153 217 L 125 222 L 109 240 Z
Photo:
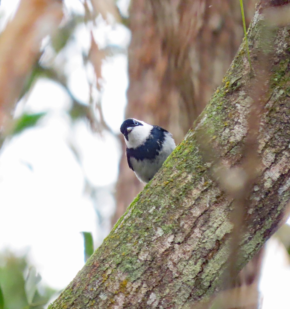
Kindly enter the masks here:
M 172 134 L 134 118 L 126 119 L 120 131 L 125 138 L 130 169 L 140 181 L 149 182 L 175 148 Z

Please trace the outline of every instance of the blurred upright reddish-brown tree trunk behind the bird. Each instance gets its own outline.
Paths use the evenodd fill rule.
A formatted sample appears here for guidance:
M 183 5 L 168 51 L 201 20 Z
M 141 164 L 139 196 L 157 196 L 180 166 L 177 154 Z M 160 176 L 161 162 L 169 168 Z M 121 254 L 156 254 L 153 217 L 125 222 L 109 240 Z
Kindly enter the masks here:
M 126 118 L 168 129 L 177 144 L 221 83 L 244 36 L 238 1 L 179 2 L 132 2 L 126 108 Z M 255 3 L 244 0 L 247 25 Z M 142 188 L 122 156 L 113 224 Z

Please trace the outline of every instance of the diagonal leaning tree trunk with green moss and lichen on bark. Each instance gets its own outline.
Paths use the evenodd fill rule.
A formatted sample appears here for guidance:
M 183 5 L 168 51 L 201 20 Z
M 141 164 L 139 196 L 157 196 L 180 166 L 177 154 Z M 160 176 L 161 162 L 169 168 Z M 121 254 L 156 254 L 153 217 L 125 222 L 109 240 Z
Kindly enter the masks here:
M 254 74 L 243 42 L 193 128 L 50 309 L 181 308 L 218 290 L 237 203 L 220 184 L 243 187 L 254 101 L 262 107 L 253 147 L 261 163 L 252 166 L 249 196 L 239 197 L 247 205 L 236 273 L 278 229 L 290 195 L 290 26 L 265 31 L 264 13 L 276 4 L 259 2 L 249 28 Z M 228 179 L 216 177 L 216 162 Z

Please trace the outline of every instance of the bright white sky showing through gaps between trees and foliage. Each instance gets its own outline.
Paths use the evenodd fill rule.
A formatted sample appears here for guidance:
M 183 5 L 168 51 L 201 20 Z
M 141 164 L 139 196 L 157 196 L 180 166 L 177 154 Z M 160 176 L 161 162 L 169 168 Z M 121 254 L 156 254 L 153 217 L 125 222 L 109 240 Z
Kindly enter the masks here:
M 82 11 L 78 0 L 65 2 L 70 9 Z M 120 1 L 124 8 L 127 2 Z M 2 0 L 0 14 L 9 16 L 17 3 Z M 3 27 L 0 24 L 0 29 Z M 109 42 L 126 47 L 130 40 L 124 27 L 106 23 L 94 35 L 100 46 Z M 81 53 L 89 45 L 89 33 L 83 27 L 77 36 L 82 38 L 81 43 L 70 51 L 70 64 L 65 70 L 74 95 L 87 102 L 87 75 Z M 116 133 L 124 119 L 126 72 L 125 55 L 103 63 L 102 107 L 105 121 Z M 0 250 L 28 252 L 43 280 L 59 289 L 83 266 L 80 231 L 92 231 L 96 243 L 109 231 L 97 223 L 92 199 L 84 193 L 84 176 L 95 186 L 113 186 L 121 155 L 120 145 L 112 135 L 104 133 L 100 137 L 91 133 L 81 121 L 71 127 L 66 115 L 69 105 L 70 99 L 61 87 L 48 80 L 37 82 L 27 103 L 19 104 L 17 114 L 25 110 L 46 111 L 48 115 L 37 128 L 7 141 L 0 152 Z M 79 150 L 82 166 L 70 150 L 70 143 Z M 112 200 L 113 197 L 106 195 L 97 206 L 107 220 L 113 212 Z M 260 285 L 264 293 L 262 308 L 289 308 L 289 263 L 284 263 L 284 253 L 275 243 L 268 244 L 267 251 Z

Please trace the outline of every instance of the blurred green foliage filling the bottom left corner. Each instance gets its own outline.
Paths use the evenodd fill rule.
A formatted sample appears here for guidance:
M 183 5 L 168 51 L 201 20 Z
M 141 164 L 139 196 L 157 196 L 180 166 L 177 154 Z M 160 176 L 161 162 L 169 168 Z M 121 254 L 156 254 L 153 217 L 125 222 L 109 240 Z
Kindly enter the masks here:
M 41 276 L 26 256 L 8 252 L 0 255 L 0 308 L 42 309 L 56 290 L 40 285 Z M 2 291 L 2 292 L 1 292 Z M 41 291 L 41 292 L 40 292 Z

